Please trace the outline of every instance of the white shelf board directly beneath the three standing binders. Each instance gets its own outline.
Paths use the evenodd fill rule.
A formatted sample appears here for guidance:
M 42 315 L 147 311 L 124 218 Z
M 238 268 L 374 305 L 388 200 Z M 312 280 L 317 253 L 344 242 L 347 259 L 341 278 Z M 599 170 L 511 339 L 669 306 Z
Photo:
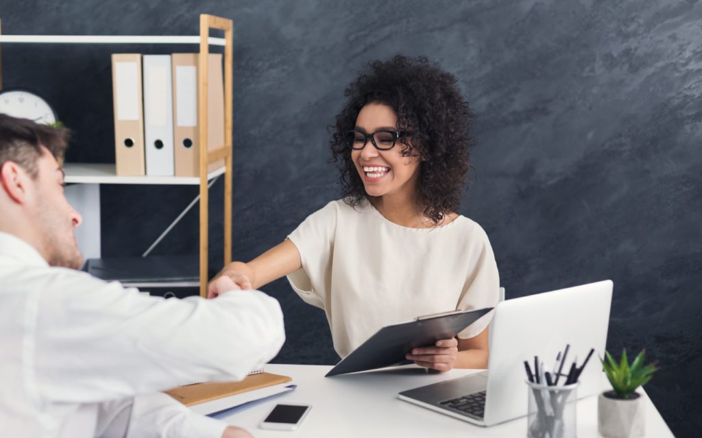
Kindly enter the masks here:
M 224 173 L 224 166 L 207 174 L 208 181 Z M 197 186 L 199 177 L 118 177 L 114 164 L 64 163 L 64 182 L 77 184 L 181 184 Z

